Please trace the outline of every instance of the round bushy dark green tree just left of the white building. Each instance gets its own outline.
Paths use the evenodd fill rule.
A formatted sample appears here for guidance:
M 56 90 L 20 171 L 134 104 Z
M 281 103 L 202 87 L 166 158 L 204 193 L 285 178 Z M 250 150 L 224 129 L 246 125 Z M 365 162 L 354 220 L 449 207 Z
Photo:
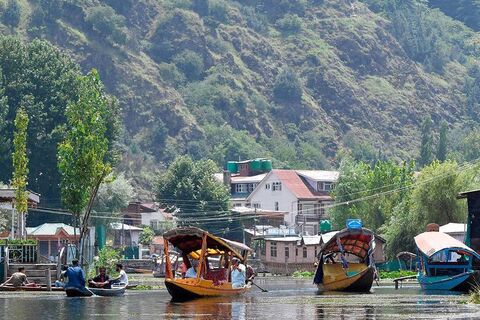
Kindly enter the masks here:
M 231 227 L 230 193 L 214 178 L 212 160 L 193 161 L 180 156 L 161 174 L 157 200 L 170 211 L 177 210 L 180 226 L 197 226 L 212 233 L 226 233 Z

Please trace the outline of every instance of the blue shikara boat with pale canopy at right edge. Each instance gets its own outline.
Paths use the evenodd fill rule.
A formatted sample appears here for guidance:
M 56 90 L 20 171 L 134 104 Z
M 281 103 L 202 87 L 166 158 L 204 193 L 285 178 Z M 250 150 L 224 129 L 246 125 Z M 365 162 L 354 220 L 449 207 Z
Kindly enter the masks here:
M 443 232 L 424 232 L 415 237 L 420 268 L 418 282 L 424 290 L 468 292 L 480 283 L 474 268 L 480 255 Z

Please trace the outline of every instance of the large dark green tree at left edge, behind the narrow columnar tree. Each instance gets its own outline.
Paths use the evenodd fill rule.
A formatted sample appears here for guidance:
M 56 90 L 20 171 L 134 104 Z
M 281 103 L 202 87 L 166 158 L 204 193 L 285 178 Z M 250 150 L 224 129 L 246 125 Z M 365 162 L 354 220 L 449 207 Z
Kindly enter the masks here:
M 46 41 L 0 36 L 0 70 L 0 180 L 13 172 L 14 118 L 23 106 L 34 119 L 27 131 L 28 184 L 44 206 L 60 206 L 57 145 L 65 108 L 78 97 L 79 66 Z

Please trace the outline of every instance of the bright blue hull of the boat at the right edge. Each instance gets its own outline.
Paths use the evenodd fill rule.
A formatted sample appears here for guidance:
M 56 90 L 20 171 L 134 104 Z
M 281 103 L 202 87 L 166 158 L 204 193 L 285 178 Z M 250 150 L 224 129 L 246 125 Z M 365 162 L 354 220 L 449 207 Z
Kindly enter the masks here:
M 424 290 L 448 290 L 469 292 L 480 283 L 479 271 L 467 271 L 455 276 L 427 277 L 417 276 L 418 283 Z

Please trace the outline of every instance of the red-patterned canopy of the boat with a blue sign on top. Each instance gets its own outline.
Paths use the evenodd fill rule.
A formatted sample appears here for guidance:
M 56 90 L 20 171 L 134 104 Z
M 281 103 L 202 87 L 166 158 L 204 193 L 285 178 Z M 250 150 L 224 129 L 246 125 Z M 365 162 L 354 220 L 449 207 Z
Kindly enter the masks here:
M 322 246 L 321 253 L 344 252 L 364 259 L 374 249 L 374 239 L 373 232 L 365 228 L 343 229 Z

